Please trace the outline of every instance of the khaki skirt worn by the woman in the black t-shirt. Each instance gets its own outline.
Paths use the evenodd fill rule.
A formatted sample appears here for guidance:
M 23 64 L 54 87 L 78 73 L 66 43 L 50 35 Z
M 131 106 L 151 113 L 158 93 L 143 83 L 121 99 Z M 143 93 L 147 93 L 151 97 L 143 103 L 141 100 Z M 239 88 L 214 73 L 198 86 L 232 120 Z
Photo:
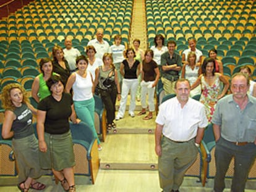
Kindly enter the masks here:
M 65 168 L 74 167 L 75 156 L 70 130 L 58 135 L 45 133 L 45 142 L 47 151 L 39 152 L 42 169 L 61 171 Z

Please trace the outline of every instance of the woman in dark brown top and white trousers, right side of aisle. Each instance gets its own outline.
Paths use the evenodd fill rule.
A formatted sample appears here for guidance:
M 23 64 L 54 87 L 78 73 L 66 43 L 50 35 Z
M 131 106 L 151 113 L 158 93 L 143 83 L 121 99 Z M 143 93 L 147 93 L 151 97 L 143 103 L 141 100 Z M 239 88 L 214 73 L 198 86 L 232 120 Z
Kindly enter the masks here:
M 143 120 L 149 120 L 153 118 L 153 112 L 155 111 L 154 104 L 154 94 L 155 94 L 155 86 L 158 83 L 160 78 L 160 72 L 158 69 L 158 65 L 155 61 L 153 61 L 154 53 L 151 49 L 148 49 L 145 52 L 145 59 L 142 62 L 142 82 L 140 85 L 142 86 L 142 111 L 139 112 L 138 115 L 146 114 L 146 96 L 148 94 L 148 106 L 149 112 L 148 115 L 143 117 Z

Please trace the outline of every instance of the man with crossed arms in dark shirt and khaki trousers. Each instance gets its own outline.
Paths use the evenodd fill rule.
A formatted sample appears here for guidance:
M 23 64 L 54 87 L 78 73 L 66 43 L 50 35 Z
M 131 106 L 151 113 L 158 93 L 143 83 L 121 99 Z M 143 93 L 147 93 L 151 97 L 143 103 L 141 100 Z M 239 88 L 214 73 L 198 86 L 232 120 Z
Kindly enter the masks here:
M 161 55 L 161 67 L 163 89 L 165 94 L 173 94 L 174 85 L 179 78 L 179 71 L 181 70 L 181 56 L 174 52 L 176 47 L 175 41 L 168 41 L 168 51 Z

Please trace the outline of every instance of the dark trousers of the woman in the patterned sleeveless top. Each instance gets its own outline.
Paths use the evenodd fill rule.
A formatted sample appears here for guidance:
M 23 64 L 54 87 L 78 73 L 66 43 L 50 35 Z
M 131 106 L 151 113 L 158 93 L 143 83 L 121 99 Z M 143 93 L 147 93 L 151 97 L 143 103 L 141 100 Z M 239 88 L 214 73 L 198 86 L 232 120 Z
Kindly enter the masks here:
M 101 99 L 105 105 L 108 124 L 114 120 L 116 111 L 116 85 L 111 86 L 108 90 L 100 90 Z

